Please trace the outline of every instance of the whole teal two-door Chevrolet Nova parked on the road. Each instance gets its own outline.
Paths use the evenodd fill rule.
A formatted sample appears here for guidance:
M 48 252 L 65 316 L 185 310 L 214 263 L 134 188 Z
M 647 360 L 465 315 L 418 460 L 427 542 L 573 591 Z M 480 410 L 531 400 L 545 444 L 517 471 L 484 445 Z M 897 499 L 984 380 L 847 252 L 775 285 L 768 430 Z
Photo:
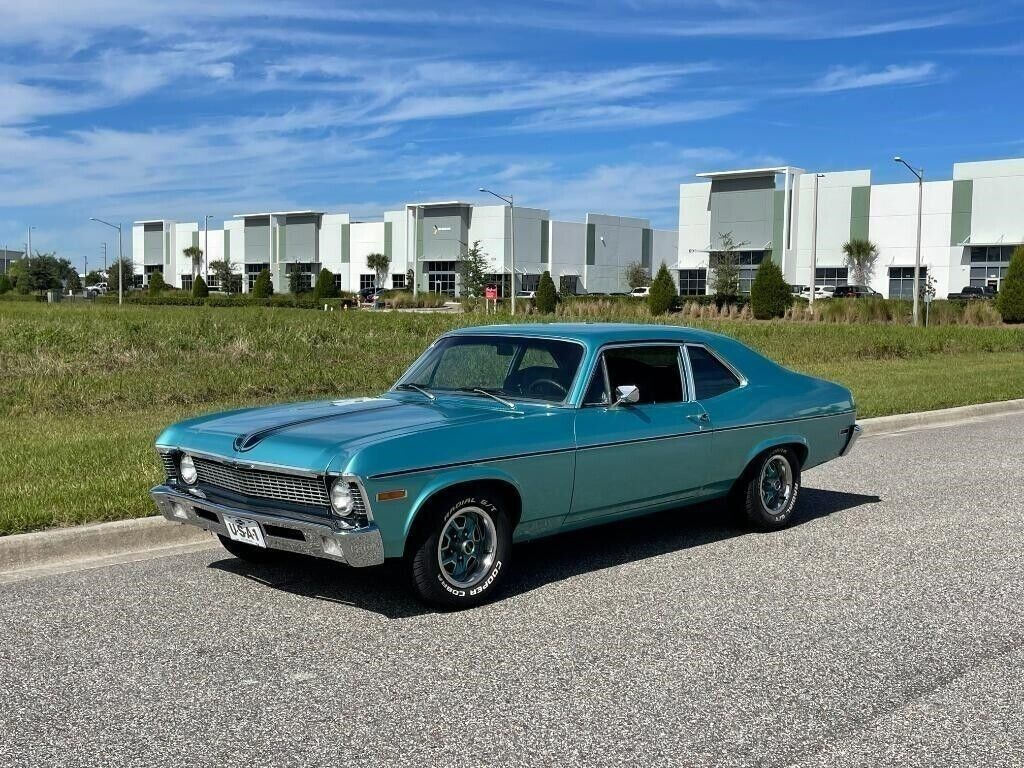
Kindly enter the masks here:
M 508 578 L 514 542 L 721 497 L 752 525 L 782 527 L 801 471 L 859 432 L 849 390 L 725 336 L 467 328 L 378 397 L 169 427 L 152 493 L 238 557 L 401 559 L 421 599 L 459 608 Z

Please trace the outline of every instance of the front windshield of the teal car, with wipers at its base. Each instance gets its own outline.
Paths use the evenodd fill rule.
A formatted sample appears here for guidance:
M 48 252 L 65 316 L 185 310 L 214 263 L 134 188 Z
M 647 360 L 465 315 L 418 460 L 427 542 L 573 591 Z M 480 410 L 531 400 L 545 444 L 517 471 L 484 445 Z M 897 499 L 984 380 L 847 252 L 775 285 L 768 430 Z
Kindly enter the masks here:
M 562 402 L 582 358 L 583 347 L 569 341 L 452 336 L 431 347 L 396 387 Z

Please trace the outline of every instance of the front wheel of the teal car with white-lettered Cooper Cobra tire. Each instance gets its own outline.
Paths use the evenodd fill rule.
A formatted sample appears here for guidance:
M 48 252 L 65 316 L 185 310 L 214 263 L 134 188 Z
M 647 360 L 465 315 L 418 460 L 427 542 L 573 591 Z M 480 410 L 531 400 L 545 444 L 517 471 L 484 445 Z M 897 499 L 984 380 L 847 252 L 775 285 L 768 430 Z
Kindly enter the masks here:
M 511 543 L 508 514 L 490 495 L 459 495 L 439 505 L 412 552 L 417 597 L 450 610 L 486 602 L 508 569 Z

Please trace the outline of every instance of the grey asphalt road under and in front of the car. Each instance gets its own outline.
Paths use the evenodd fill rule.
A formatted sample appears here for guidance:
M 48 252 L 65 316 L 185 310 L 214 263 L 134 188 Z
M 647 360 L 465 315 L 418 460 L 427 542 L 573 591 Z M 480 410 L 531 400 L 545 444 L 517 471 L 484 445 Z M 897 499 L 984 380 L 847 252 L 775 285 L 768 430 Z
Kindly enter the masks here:
M 772 535 L 521 546 L 459 614 L 219 550 L 0 585 L 0 765 L 1021 765 L 1022 433 L 864 438 Z

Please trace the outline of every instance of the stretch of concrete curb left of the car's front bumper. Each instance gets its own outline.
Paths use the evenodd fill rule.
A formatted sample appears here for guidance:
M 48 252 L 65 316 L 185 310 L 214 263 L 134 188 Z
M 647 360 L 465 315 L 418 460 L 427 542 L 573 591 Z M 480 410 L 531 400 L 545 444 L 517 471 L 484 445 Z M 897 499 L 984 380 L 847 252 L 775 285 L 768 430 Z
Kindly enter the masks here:
M 17 534 L 0 537 L 0 573 L 214 541 L 205 530 L 160 515 Z

